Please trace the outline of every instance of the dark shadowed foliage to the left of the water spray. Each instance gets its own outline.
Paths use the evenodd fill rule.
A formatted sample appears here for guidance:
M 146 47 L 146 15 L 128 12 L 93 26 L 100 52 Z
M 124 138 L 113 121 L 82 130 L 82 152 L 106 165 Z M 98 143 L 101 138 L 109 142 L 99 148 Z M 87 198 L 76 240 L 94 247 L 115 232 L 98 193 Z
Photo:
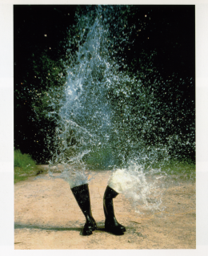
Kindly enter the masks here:
M 66 82 L 63 61 L 74 11 L 75 6 L 14 6 L 14 147 L 38 162 L 50 157 L 53 145 L 47 91 L 61 90 Z

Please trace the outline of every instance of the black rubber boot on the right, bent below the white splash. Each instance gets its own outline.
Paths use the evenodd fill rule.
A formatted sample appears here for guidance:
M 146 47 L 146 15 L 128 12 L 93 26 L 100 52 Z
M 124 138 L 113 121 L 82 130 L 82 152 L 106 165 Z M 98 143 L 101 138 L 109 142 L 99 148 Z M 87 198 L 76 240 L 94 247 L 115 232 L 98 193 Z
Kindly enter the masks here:
M 106 216 L 105 230 L 113 234 L 123 234 L 126 228 L 118 223 L 114 215 L 113 198 L 117 196 L 118 193 L 114 189 L 111 189 L 109 186 L 106 187 L 103 197 L 103 209 Z

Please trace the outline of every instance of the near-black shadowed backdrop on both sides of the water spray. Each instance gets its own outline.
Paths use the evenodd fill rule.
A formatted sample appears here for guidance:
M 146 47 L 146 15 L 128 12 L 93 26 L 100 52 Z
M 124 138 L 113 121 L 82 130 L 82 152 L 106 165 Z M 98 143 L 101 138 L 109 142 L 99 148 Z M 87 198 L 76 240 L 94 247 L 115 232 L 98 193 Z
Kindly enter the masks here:
M 66 82 L 63 61 L 66 60 L 69 39 L 76 33 L 74 14 L 85 8 L 73 5 L 14 6 L 14 148 L 30 153 L 38 163 L 46 163 L 54 150 L 55 120 L 42 114 L 43 105 L 50 110 L 42 100 L 42 93 L 49 87 L 61 87 Z M 171 91 L 174 95 L 177 89 L 182 95 L 181 102 L 177 103 L 179 108 L 186 100 L 186 108 L 193 113 L 194 12 L 194 6 L 130 6 L 128 10 L 124 6 L 122 15 L 126 19 L 126 33 L 133 25 L 134 33 L 130 35 L 130 47 L 128 44 L 122 45 L 124 51 L 118 51 L 117 54 L 118 59 L 124 59 L 132 75 L 142 69 L 141 79 L 145 84 L 147 81 L 148 84 L 153 83 L 155 78 L 161 82 L 170 80 L 168 87 L 158 87 L 162 102 L 170 101 L 165 91 Z M 119 22 L 119 19 L 115 22 Z M 111 35 L 118 33 L 113 24 L 112 21 Z M 154 58 L 150 61 L 153 53 Z M 156 71 L 150 73 L 150 67 Z M 60 72 L 63 73 L 62 77 L 58 75 Z M 176 88 L 180 79 L 185 82 Z M 193 127 L 194 115 L 186 116 L 184 122 L 180 124 L 181 130 L 185 126 Z M 46 135 L 51 138 L 50 146 Z M 194 159 L 194 148 L 189 151 L 189 155 Z

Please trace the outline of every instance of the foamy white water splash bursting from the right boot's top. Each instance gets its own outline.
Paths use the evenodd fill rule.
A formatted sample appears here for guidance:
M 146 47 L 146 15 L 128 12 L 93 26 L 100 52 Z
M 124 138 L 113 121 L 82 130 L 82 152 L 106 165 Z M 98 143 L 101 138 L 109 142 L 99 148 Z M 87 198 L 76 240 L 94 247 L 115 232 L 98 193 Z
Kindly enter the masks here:
M 130 199 L 137 213 L 142 209 L 162 210 L 162 176 L 159 169 L 151 169 L 146 175 L 142 165 L 131 161 L 127 169 L 117 169 L 108 181 L 108 185 L 118 193 Z

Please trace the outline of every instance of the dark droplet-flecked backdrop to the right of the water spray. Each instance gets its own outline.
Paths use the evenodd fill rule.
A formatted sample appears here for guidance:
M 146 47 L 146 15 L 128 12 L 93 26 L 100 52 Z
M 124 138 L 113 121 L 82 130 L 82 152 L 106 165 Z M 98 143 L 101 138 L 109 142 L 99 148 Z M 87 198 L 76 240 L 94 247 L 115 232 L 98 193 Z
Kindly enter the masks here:
M 126 98 L 121 93 L 118 103 L 122 102 L 122 114 L 126 106 L 134 104 L 136 108 L 142 104 L 142 116 L 147 116 L 150 122 L 154 118 L 156 124 L 149 127 L 154 131 L 148 128 L 144 134 L 147 143 L 158 144 L 155 138 L 163 137 L 165 144 L 170 136 L 177 136 L 173 156 L 194 160 L 194 6 L 112 6 L 111 12 L 109 30 L 114 43 L 110 51 L 117 55 L 120 71 L 126 70 L 141 81 L 146 95 L 146 99 L 139 98 L 139 93 L 138 97 Z M 120 26 L 114 26 L 116 22 Z M 141 90 L 136 83 L 128 87 L 135 93 Z M 157 99 L 155 109 L 161 109 L 160 115 L 154 117 L 150 112 L 154 108 L 146 106 L 153 95 Z M 166 127 L 166 134 L 162 127 Z

